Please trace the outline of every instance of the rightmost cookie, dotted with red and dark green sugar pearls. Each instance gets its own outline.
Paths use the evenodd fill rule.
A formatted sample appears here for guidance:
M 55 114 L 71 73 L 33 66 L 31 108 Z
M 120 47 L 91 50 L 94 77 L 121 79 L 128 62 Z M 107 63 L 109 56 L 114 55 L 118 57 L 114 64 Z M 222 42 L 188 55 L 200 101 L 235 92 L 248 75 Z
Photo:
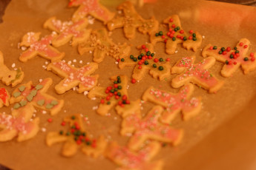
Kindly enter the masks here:
M 230 77 L 239 68 L 242 67 L 243 73 L 247 74 L 256 69 L 255 55 L 251 52 L 247 55 L 250 41 L 246 38 L 240 39 L 237 46 L 232 50 L 230 47 L 217 47 L 208 44 L 202 52 L 203 57 L 212 56 L 217 61 L 224 63 L 221 75 Z

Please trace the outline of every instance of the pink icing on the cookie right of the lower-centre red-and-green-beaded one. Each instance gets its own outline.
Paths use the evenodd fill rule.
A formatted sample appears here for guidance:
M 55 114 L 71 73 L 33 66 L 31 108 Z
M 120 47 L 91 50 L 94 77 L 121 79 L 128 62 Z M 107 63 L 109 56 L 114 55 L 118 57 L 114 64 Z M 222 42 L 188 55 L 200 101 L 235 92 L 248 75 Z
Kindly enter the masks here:
M 167 105 L 166 113 L 162 115 L 162 118 L 165 119 L 179 109 L 190 112 L 198 106 L 200 102 L 198 98 L 191 98 L 191 100 L 187 99 L 189 91 L 190 89 L 188 86 L 183 86 L 183 88 L 180 89 L 180 92 L 175 95 L 160 89 L 151 89 L 150 95 L 153 97 L 153 101 L 165 103 Z

